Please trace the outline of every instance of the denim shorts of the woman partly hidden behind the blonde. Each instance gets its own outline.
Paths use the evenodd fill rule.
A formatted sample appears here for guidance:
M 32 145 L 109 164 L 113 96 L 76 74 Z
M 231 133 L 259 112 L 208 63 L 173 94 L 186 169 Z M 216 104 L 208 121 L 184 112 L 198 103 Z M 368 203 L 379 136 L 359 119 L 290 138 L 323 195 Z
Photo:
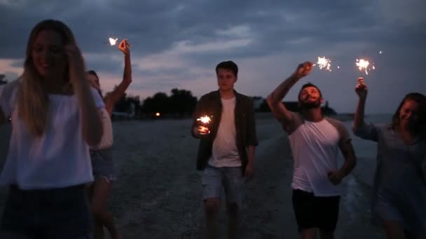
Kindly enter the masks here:
M 112 147 L 102 150 L 90 150 L 93 178 L 116 180 L 116 171 L 112 157 Z

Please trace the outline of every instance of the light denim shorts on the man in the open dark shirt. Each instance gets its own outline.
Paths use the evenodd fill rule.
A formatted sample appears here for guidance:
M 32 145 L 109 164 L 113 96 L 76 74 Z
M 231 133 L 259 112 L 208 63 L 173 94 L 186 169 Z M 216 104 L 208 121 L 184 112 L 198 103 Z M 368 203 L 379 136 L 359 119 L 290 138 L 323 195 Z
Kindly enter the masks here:
M 201 176 L 202 199 L 221 198 L 222 188 L 227 203 L 242 203 L 242 169 L 241 167 L 215 168 L 206 166 Z

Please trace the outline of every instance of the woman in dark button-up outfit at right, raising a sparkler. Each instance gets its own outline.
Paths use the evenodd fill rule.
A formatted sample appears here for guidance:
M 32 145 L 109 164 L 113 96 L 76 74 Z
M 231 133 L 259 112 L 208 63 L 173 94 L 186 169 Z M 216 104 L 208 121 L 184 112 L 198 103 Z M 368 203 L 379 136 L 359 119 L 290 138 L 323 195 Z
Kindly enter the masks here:
M 387 238 L 426 238 L 426 96 L 410 93 L 391 124 L 364 123 L 367 87 L 362 78 L 355 135 L 378 143 L 372 212 Z

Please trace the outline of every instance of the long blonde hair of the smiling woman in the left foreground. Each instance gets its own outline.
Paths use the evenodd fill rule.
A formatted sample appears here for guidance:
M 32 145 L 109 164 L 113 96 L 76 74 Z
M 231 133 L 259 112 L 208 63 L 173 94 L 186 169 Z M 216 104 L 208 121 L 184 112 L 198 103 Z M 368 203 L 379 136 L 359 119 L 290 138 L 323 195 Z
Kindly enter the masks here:
M 66 24 L 57 20 L 43 20 L 36 24 L 29 34 L 27 43 L 24 73 L 20 77 L 17 92 L 18 117 L 34 136 L 42 136 L 48 124 L 49 98 L 44 89 L 43 78 L 36 70 L 32 59 L 34 41 L 43 30 L 55 31 L 62 37 L 62 45 L 75 44 L 74 35 Z M 64 78 L 69 84 L 68 71 Z

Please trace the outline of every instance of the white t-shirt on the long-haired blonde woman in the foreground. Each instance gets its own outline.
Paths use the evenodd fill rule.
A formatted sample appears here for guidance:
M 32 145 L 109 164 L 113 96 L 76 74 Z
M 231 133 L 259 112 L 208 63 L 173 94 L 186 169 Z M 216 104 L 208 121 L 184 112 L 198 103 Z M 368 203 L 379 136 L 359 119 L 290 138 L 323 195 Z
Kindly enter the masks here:
M 10 84 L 13 85 L 4 88 L 0 96 L 1 110 L 12 118 L 11 141 L 0 184 L 54 189 L 91 182 L 89 147 L 83 138 L 77 97 L 49 94 L 49 123 L 43 136 L 36 138 L 18 117 L 18 82 Z M 97 108 L 104 108 L 99 93 L 91 90 Z

